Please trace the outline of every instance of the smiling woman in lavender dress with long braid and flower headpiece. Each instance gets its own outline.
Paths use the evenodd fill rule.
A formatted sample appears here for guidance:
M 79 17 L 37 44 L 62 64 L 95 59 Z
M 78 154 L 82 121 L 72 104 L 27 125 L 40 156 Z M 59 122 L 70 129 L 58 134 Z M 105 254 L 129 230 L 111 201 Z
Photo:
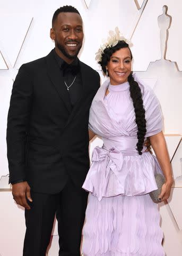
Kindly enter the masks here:
M 162 114 L 153 91 L 131 73 L 132 53 L 124 38 L 111 34 L 98 52 L 109 76 L 90 109 L 90 137 L 102 137 L 83 184 L 90 191 L 83 229 L 84 256 L 163 256 L 157 189 L 157 159 L 166 179 L 159 201 L 169 198 L 172 174 L 162 133 Z M 146 137 L 157 159 L 143 146 Z M 157 172 L 160 172 L 158 170 Z

